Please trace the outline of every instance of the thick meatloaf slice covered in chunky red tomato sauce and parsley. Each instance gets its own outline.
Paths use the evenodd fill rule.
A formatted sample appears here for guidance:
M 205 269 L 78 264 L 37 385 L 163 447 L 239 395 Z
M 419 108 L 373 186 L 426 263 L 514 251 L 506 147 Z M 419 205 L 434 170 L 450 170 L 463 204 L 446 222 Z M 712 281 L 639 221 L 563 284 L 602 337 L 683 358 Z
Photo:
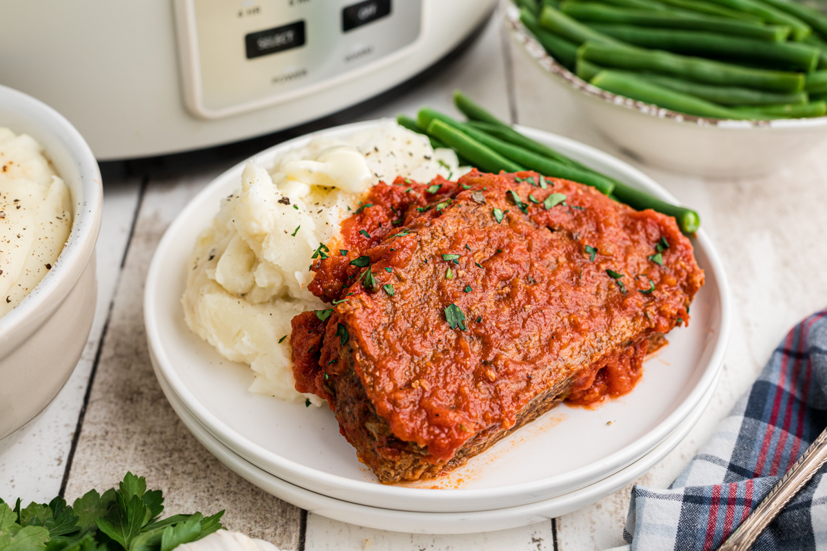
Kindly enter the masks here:
M 299 392 L 382 482 L 456 468 L 562 399 L 629 392 L 704 274 L 676 222 L 537 173 L 371 188 L 312 266 Z

